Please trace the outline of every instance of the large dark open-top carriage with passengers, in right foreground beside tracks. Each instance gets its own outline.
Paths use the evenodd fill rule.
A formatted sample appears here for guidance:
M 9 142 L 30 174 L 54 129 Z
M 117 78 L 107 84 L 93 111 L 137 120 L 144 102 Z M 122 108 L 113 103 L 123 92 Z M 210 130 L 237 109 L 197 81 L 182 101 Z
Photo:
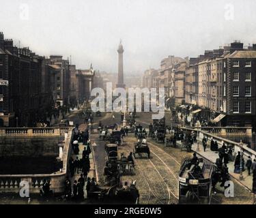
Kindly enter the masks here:
M 205 159 L 193 163 L 186 159 L 179 173 L 180 204 L 210 204 L 214 165 Z

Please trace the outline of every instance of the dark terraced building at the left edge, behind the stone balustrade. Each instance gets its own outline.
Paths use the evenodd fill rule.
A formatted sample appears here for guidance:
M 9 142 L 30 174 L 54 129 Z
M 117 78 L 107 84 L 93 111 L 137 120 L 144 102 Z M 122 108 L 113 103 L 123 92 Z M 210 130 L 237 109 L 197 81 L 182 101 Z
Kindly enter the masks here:
M 29 126 L 51 104 L 50 73 L 44 57 L 16 48 L 0 33 L 0 126 Z

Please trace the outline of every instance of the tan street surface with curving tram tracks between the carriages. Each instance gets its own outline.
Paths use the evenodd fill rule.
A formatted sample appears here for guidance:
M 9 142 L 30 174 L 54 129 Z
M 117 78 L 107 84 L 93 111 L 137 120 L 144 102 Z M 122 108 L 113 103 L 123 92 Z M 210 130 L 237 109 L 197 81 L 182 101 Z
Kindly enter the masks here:
M 115 119 L 113 119 L 113 114 Z M 119 113 L 106 113 L 100 119 L 103 125 L 120 123 Z M 147 127 L 150 123 L 150 113 L 137 113 L 137 123 Z M 94 121 L 94 127 L 97 127 L 97 120 Z M 94 150 L 96 161 L 96 169 L 98 172 L 99 183 L 103 184 L 103 169 L 105 166 L 104 141 L 98 139 L 96 130 L 91 134 L 91 142 Z M 124 139 L 124 145 L 118 147 L 119 155 L 124 153 L 127 157 L 133 151 L 136 138 L 134 134 L 129 133 Z M 191 158 L 193 153 L 180 151 L 172 147 L 165 147 L 164 144 L 156 143 L 148 138 L 147 142 L 150 146 L 151 158 L 147 157 L 135 159 L 134 176 L 123 176 L 122 181 L 137 181 L 137 188 L 140 192 L 141 204 L 177 204 L 178 202 L 178 173 L 181 163 L 186 158 Z M 253 194 L 244 186 L 232 179 L 235 184 L 236 198 L 225 198 L 223 196 L 224 189 L 218 187 L 218 193 L 214 194 L 212 204 L 251 204 L 253 202 Z

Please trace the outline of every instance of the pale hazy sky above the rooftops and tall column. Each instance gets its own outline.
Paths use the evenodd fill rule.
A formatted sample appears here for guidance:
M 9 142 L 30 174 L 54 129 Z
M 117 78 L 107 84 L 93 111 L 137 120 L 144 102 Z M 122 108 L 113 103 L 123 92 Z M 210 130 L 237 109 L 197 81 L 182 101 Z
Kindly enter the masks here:
M 1 2 L 0 31 L 39 55 L 72 55 L 78 68 L 106 72 L 117 72 L 122 38 L 128 74 L 168 55 L 256 43 L 255 8 L 255 0 L 12 0 Z

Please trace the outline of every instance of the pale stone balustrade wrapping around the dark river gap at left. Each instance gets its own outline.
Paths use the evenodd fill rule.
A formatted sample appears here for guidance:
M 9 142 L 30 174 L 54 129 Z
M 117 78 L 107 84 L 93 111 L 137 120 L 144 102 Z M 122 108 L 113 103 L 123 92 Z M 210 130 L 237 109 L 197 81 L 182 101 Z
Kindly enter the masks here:
M 5 128 L 0 129 L 1 136 L 53 136 L 53 134 L 58 134 L 58 136 L 66 134 L 66 140 L 63 144 L 62 151 L 62 168 L 58 172 L 53 174 L 0 174 L 0 193 L 19 193 L 20 191 L 20 181 L 29 182 L 29 193 L 40 193 L 44 180 L 47 180 L 51 184 L 51 190 L 55 193 L 62 193 L 65 189 L 65 180 L 68 175 L 68 159 L 72 151 L 72 128 L 69 127 L 46 127 L 46 128 Z

